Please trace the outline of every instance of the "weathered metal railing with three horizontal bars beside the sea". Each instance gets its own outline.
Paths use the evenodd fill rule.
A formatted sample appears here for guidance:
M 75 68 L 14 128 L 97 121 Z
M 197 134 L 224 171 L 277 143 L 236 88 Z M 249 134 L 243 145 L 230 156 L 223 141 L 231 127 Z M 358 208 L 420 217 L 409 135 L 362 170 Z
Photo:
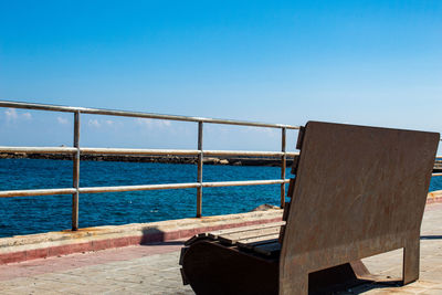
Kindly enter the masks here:
M 285 168 L 287 156 L 297 156 L 298 152 L 286 151 L 286 130 L 299 129 L 298 126 L 266 124 L 244 120 L 214 119 L 203 117 L 187 117 L 173 115 L 159 115 L 140 112 L 125 112 L 101 108 L 85 108 L 72 106 L 55 106 L 31 103 L 18 103 L 0 101 L 0 107 L 25 108 L 36 110 L 65 112 L 74 114 L 74 140 L 73 147 L 6 147 L 0 146 L 0 152 L 39 152 L 39 154 L 64 154 L 73 155 L 73 187 L 59 189 L 33 189 L 33 190 L 9 190 L 0 191 L 0 198 L 48 196 L 48 194 L 72 194 L 72 230 L 78 229 L 78 197 L 80 193 L 118 192 L 118 191 L 140 191 L 140 190 L 162 190 L 162 189 L 197 189 L 197 217 L 202 215 L 202 188 L 213 187 L 235 187 L 235 186 L 259 186 L 259 185 L 280 185 L 281 186 L 281 208 L 285 204 Z M 136 118 L 167 119 L 198 123 L 198 147 L 197 149 L 129 149 L 129 148 L 83 148 L 80 146 L 80 122 L 81 114 L 124 116 Z M 265 127 L 281 129 L 281 151 L 248 151 L 248 150 L 203 150 L 203 124 L 225 124 L 252 127 Z M 198 175 L 197 182 L 188 183 L 164 183 L 144 186 L 116 186 L 116 187 L 80 187 L 80 156 L 81 155 L 145 155 L 145 156 L 197 156 Z M 246 181 L 202 181 L 202 167 L 204 156 L 257 156 L 257 157 L 281 157 L 281 179 L 272 180 L 246 180 Z

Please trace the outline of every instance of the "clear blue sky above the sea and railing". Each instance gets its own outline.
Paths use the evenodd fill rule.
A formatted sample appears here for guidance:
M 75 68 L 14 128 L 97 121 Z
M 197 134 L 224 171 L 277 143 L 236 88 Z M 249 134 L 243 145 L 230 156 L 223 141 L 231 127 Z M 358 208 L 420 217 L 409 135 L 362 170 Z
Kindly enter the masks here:
M 442 131 L 442 1 L 0 1 L 0 99 Z M 84 116 L 81 140 L 194 148 L 196 131 Z M 278 135 L 208 126 L 204 147 Z M 0 108 L 0 145 L 63 144 L 72 116 Z

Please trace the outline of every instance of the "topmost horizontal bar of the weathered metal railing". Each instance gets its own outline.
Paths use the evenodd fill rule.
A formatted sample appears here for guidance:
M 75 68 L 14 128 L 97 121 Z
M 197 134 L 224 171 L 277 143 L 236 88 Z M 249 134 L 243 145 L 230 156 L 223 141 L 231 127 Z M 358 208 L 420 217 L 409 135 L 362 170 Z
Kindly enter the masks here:
M 215 118 L 204 118 L 204 117 L 161 115 L 161 114 L 141 113 L 141 112 L 44 105 L 44 104 L 19 103 L 19 102 L 9 102 L 9 101 L 0 101 L 0 107 L 27 108 L 27 109 L 38 109 L 38 110 L 52 110 L 52 112 L 69 112 L 69 113 L 81 112 L 83 114 L 93 114 L 93 115 L 168 119 L 168 120 L 182 120 L 182 122 L 203 122 L 203 123 L 212 123 L 212 124 L 299 129 L 299 126 L 292 126 L 292 125 L 284 125 L 284 124 L 267 124 L 267 123 L 245 122 L 245 120 L 234 120 L 234 119 L 215 119 Z

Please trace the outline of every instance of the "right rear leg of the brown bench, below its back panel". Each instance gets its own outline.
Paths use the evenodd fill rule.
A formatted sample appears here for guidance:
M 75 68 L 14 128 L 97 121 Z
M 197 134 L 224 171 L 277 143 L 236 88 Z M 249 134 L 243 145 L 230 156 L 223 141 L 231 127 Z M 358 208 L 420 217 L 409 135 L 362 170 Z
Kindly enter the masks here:
M 409 284 L 419 278 L 420 239 L 412 239 L 403 247 L 402 283 Z

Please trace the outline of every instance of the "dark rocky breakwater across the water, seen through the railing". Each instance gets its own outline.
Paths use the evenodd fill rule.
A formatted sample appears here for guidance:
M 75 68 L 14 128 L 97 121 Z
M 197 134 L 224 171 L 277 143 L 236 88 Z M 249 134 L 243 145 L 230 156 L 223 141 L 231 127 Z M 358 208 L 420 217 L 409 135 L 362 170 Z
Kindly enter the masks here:
M 60 154 L 28 154 L 4 152 L 0 159 L 46 159 L 46 160 L 73 160 L 72 155 Z M 287 157 L 286 166 L 291 167 L 293 157 Z M 189 156 L 122 156 L 122 155 L 82 155 L 85 161 L 124 161 L 124 162 L 162 162 L 162 164 L 197 164 L 197 157 Z M 228 166 L 271 166 L 280 167 L 281 159 L 270 157 L 204 157 L 204 165 Z

